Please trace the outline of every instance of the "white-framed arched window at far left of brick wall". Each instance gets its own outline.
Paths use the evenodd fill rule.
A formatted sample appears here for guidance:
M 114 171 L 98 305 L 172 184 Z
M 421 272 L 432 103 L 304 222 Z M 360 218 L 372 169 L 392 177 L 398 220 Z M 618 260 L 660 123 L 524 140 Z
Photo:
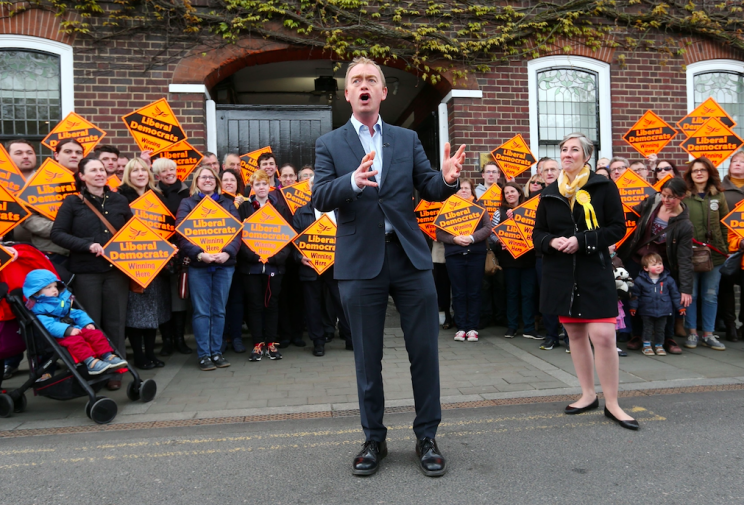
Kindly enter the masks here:
M 42 157 L 41 140 L 74 109 L 72 47 L 0 35 L 0 141 L 23 138 Z

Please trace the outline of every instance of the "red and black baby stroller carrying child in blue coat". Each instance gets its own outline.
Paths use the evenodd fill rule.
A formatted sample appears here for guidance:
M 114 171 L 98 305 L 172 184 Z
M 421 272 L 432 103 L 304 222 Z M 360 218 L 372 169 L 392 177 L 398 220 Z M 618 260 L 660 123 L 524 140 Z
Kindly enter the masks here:
M 131 367 L 91 376 L 85 366 L 77 366 L 67 350 L 59 345 L 57 339 L 26 308 L 23 300 L 22 287 L 26 275 L 37 268 L 45 268 L 57 274 L 54 264 L 44 253 L 29 244 L 4 245 L 15 248 L 18 258 L 0 271 L 0 321 L 16 318 L 20 334 L 26 343 L 29 378 L 18 389 L 0 394 L 0 417 L 9 417 L 13 412 L 23 412 L 26 408 L 25 392 L 32 388 L 34 395 L 54 400 L 71 400 L 87 396 L 85 414 L 98 424 L 110 423 L 118 411 L 116 402 L 105 396 L 97 396 L 96 393 L 110 379 L 118 379 L 121 373 L 127 371 L 133 377 L 127 386 L 127 397 L 132 401 L 152 401 L 157 393 L 155 381 L 152 379 L 142 381 Z M 59 278 L 58 274 L 57 277 Z M 75 307 L 83 308 L 77 301 Z M 65 367 L 58 367 L 58 360 L 61 360 Z

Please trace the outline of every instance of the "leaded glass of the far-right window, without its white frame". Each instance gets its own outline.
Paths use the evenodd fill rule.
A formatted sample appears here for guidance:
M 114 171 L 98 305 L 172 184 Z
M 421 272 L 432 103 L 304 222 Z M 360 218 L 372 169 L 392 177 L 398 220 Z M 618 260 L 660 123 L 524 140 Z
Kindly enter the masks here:
M 712 97 L 733 118 L 734 132 L 744 138 L 744 73 L 701 72 L 695 74 L 693 88 L 695 107 Z M 728 172 L 730 161 L 731 158 L 719 165 L 722 175 Z

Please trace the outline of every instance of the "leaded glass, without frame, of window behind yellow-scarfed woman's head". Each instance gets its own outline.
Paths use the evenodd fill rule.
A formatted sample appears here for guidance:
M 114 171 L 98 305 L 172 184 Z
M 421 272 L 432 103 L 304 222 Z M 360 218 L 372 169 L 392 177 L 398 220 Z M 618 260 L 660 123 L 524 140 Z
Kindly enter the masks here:
M 576 68 L 547 68 L 537 72 L 538 158 L 560 159 L 563 137 L 581 132 L 601 148 L 597 73 Z M 594 163 L 592 163 L 594 165 Z

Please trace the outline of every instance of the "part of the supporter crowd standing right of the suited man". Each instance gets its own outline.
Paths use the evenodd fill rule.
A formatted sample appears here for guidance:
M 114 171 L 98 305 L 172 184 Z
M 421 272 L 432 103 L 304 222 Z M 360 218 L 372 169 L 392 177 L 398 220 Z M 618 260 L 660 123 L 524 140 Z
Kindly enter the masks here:
M 445 329 L 454 326 L 456 341 L 477 342 L 478 329 L 497 325 L 507 328 L 506 338 L 541 340 L 540 349 L 563 345 L 571 352 L 558 318 L 539 310 L 540 293 L 551 290 L 551 279 L 543 272 L 544 251 L 535 242 L 534 249 L 515 259 L 496 234 L 488 233 L 511 218 L 515 207 L 541 195 L 565 165 L 563 159 L 542 158 L 524 185 L 507 180 L 490 161 L 481 167 L 482 183 L 474 186 L 472 180 L 461 179 L 462 198 L 477 202 L 496 184 L 502 202 L 490 223 L 484 216 L 472 235 L 453 237 L 437 231 L 432 260 L 440 320 Z M 656 155 L 633 162 L 619 156 L 600 158 L 596 166 L 596 175 L 613 182 L 626 170 L 651 185 L 666 179 L 660 192 L 633 208 L 635 231 L 619 248 L 611 246 L 611 258 L 606 258 L 616 274 L 617 341 L 627 342 L 628 350 L 665 356 L 682 353 L 675 337 L 683 338 L 689 349 L 700 345 L 718 351 L 726 347 L 714 334 L 717 329 L 725 331 L 727 341 L 739 340 L 737 321 L 744 319 L 741 313 L 736 316 L 734 286 L 741 284 L 741 269 L 727 276 L 720 270 L 727 256 L 744 244 L 721 220 L 744 199 L 744 151 L 731 157 L 723 180 L 704 157 L 692 160 L 683 171 Z M 493 275 L 484 269 L 489 248 L 499 263 Z M 540 327 L 545 334 L 538 332 Z M 627 356 L 620 347 L 616 352 Z

